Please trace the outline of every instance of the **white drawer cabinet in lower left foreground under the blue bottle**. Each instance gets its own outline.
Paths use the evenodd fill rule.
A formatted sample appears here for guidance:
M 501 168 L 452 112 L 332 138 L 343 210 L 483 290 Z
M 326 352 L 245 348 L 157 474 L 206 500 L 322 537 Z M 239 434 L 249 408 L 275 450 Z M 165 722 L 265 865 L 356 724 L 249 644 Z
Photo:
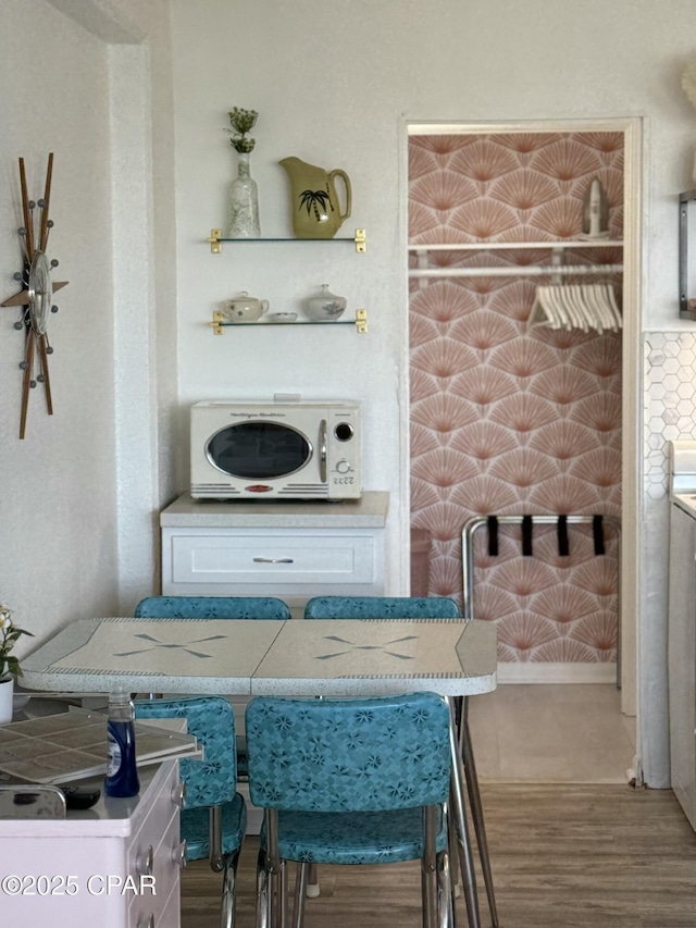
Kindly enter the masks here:
M 178 762 L 139 770 L 133 799 L 64 820 L 0 821 L 0 911 L 22 928 L 177 928 Z M 18 892 L 15 882 L 22 880 Z M 128 879 L 130 878 L 130 879 Z

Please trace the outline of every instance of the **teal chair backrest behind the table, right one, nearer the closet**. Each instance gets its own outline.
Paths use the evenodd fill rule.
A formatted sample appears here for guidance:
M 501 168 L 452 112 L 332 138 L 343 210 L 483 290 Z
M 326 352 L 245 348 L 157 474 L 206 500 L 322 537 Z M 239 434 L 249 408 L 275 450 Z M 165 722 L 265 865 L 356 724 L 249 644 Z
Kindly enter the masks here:
M 304 606 L 306 619 L 459 619 L 447 596 L 315 596 Z

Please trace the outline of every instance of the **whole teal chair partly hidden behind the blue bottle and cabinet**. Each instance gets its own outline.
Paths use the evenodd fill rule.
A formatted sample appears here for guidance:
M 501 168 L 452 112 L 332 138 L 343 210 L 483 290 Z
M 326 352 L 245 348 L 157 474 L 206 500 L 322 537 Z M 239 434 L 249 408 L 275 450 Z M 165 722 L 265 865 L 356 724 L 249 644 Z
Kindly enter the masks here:
M 192 696 L 176 700 L 138 700 L 138 719 L 185 718 L 187 731 L 203 748 L 202 759 L 179 762 L 186 784 L 182 811 L 182 840 L 186 859 L 210 861 L 223 874 L 221 925 L 233 928 L 236 910 L 236 879 L 239 853 L 247 829 L 247 807 L 237 792 L 235 717 L 222 696 Z

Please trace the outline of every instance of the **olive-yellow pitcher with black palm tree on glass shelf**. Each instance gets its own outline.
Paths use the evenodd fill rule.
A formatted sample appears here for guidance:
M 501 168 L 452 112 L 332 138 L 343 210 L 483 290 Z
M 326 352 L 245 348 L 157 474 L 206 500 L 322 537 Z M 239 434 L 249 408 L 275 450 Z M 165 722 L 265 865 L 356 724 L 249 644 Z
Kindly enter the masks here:
M 350 215 L 351 189 L 345 171 L 324 171 L 299 158 L 279 162 L 290 181 L 293 231 L 296 238 L 333 238 L 340 224 Z M 335 177 L 346 188 L 346 210 L 341 212 Z

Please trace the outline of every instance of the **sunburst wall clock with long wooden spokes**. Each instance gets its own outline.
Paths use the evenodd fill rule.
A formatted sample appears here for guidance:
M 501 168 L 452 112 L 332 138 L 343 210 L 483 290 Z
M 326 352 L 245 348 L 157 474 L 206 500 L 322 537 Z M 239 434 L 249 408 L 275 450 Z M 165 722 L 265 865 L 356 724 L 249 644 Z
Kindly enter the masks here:
M 21 283 L 22 289 L 0 304 L 0 306 L 22 307 L 22 318 L 14 323 L 15 329 L 25 333 L 24 360 L 20 363 L 20 368 L 24 371 L 20 438 L 24 438 L 26 433 L 29 391 L 38 383 L 42 383 L 46 391 L 48 414 L 53 414 L 51 381 L 48 372 L 48 356 L 53 352 L 53 349 L 48 339 L 48 317 L 50 312 L 58 312 L 58 307 L 52 302 L 53 294 L 66 286 L 67 281 L 51 281 L 51 272 L 58 267 L 58 261 L 49 260 L 46 251 L 49 231 L 53 226 L 52 220 L 49 219 L 52 174 L 53 152 L 48 157 L 44 198 L 35 202 L 28 198 L 24 159 L 20 158 L 24 225 L 17 230 L 17 233 L 22 243 L 23 268 L 14 279 Z M 36 379 L 34 376 L 35 358 L 38 359 Z

